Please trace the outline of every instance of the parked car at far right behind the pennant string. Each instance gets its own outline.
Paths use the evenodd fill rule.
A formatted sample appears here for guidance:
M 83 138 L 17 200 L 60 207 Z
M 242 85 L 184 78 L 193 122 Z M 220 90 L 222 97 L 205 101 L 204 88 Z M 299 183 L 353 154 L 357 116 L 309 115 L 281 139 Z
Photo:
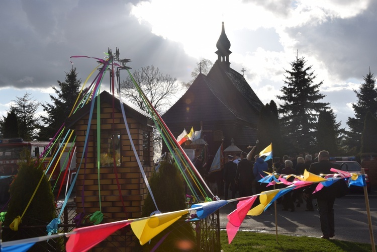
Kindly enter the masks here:
M 340 164 L 341 170 L 349 173 L 358 173 L 361 174 L 361 165 L 356 161 L 356 157 L 354 156 L 341 156 L 341 157 L 330 157 L 330 162 Z M 366 190 L 370 192 L 370 182 L 369 177 L 366 174 L 368 169 L 364 169 L 365 172 L 365 182 L 366 182 Z M 348 185 L 348 178 L 345 179 Z M 358 186 L 351 186 L 350 189 L 353 190 L 361 190 L 361 187 Z

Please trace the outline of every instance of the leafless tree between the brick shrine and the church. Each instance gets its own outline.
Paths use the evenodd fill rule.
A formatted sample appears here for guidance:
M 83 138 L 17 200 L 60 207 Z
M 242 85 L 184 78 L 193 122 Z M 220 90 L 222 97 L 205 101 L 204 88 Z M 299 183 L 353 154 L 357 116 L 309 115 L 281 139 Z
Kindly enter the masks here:
M 179 87 L 176 78 L 160 72 L 158 67 L 145 66 L 132 73 L 148 100 L 156 111 L 162 115 L 171 107 L 170 101 L 178 93 Z M 121 83 L 121 93 L 131 103 L 148 113 L 146 105 L 137 91 L 135 84 L 130 77 Z M 153 131 L 153 147 L 155 156 L 161 153 L 162 138 L 158 130 Z

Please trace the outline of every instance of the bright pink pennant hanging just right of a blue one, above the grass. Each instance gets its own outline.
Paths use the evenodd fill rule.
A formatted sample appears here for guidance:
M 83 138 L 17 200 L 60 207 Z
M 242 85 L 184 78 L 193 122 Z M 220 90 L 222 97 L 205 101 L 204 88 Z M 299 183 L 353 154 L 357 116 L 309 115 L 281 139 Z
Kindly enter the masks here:
M 236 236 L 242 221 L 245 219 L 247 212 L 256 198 L 257 196 L 253 196 L 249 199 L 239 201 L 236 210 L 228 214 L 227 218 L 229 222 L 227 223 L 227 234 L 229 244 L 232 242 L 234 236 Z

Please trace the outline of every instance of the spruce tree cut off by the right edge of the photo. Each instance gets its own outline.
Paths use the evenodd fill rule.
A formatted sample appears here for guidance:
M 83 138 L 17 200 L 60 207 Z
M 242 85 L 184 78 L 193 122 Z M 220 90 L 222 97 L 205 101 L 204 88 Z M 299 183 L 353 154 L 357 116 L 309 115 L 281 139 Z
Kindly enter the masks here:
M 357 103 L 352 104 L 355 116 L 348 117 L 347 120 L 350 130 L 347 132 L 346 144 L 352 154 L 360 151 L 360 139 L 366 113 L 370 111 L 373 116 L 377 116 L 377 88 L 375 87 L 375 77 L 370 73 L 370 68 L 369 73 L 363 78 L 364 82 L 361 83 L 360 90 L 353 91 L 357 97 Z

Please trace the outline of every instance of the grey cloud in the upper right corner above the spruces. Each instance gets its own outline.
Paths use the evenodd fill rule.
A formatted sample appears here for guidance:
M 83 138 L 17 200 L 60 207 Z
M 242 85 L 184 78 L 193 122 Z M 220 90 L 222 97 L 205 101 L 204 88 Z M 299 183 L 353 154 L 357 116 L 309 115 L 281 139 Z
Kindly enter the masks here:
M 352 18 L 334 18 L 322 24 L 306 25 L 287 30 L 296 38 L 298 49 L 311 54 L 326 65 L 331 75 L 342 79 L 361 78 L 368 67 L 377 70 L 374 32 L 377 27 L 377 4 Z

